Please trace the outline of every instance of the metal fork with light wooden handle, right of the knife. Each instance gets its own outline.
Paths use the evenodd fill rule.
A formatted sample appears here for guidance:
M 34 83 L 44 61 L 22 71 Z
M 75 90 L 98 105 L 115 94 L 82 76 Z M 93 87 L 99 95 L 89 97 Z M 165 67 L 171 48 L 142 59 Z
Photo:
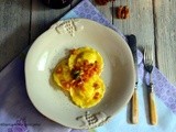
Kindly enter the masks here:
M 150 122 L 151 124 L 157 124 L 157 112 L 156 112 L 156 105 L 154 99 L 154 91 L 153 91 L 153 80 L 152 80 L 152 70 L 153 70 L 153 51 L 152 46 L 147 45 L 144 48 L 144 68 L 150 74 L 150 84 L 147 87 L 150 88 L 148 92 L 148 102 L 150 102 Z

